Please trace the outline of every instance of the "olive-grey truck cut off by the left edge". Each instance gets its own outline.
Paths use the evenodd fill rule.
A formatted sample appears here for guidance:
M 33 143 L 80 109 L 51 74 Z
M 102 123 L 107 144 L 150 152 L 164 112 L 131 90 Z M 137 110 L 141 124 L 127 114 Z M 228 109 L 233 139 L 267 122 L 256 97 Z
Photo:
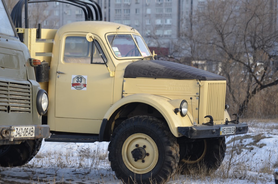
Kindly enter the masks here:
M 0 0 L 0 166 L 19 166 L 30 161 L 50 136 L 42 125 L 48 97 L 36 82 L 30 57 L 19 41 L 8 9 Z

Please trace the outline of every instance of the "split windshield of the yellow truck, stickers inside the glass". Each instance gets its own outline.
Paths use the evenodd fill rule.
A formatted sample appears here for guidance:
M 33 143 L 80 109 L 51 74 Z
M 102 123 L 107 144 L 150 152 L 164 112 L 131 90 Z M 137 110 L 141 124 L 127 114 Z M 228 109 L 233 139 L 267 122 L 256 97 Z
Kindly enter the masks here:
M 145 42 L 140 36 L 131 34 L 112 34 L 108 35 L 107 39 L 115 56 L 118 58 L 134 56 L 146 57 L 151 55 Z

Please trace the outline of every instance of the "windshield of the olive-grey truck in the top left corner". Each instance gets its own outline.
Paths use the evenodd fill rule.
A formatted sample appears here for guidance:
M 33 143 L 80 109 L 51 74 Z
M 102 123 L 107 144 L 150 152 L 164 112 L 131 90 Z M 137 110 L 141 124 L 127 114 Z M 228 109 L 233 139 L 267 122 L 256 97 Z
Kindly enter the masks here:
M 14 29 L 10 23 L 8 14 L 4 8 L 3 2 L 0 0 L 0 33 L 9 36 L 15 36 Z

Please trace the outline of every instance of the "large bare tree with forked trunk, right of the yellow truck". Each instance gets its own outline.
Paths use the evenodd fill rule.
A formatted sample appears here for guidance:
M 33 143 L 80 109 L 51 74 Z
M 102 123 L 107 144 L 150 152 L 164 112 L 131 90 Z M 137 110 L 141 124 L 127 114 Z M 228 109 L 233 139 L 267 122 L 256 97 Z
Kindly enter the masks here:
M 227 99 L 238 104 L 240 115 L 246 113 L 252 97 L 278 84 L 275 3 L 208 0 L 187 20 L 191 27 L 181 32 L 192 60 L 218 66 L 213 72 L 227 78 Z

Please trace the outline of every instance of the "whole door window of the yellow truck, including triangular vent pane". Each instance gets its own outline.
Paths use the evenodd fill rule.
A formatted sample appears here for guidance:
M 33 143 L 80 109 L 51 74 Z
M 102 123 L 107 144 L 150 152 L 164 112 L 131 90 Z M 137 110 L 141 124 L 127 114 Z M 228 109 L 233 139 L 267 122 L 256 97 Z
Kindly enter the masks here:
M 87 41 L 83 36 L 68 36 L 65 39 L 64 62 L 104 64 L 107 62 L 99 43 Z

